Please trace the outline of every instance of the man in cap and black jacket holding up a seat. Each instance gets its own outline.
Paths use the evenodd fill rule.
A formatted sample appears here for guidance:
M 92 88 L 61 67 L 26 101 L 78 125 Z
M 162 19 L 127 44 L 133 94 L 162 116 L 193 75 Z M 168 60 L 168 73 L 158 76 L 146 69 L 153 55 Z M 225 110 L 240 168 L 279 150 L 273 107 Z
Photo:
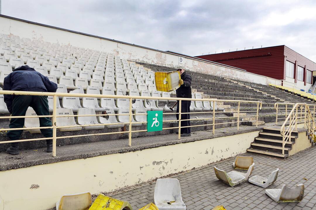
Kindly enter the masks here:
M 177 71 L 180 72 L 181 79 L 179 84 L 181 85 L 178 89 L 176 89 L 177 98 L 192 98 L 191 94 L 191 76 L 185 72 L 183 66 L 179 66 Z M 181 101 L 181 113 L 190 112 L 191 101 L 182 100 Z M 179 112 L 179 101 L 177 104 L 177 112 Z M 191 126 L 190 124 L 190 114 L 181 114 L 181 127 L 183 126 Z M 177 114 L 177 120 L 179 120 L 179 114 Z M 179 123 L 178 123 L 179 125 Z M 181 136 L 191 136 L 191 128 L 181 128 Z

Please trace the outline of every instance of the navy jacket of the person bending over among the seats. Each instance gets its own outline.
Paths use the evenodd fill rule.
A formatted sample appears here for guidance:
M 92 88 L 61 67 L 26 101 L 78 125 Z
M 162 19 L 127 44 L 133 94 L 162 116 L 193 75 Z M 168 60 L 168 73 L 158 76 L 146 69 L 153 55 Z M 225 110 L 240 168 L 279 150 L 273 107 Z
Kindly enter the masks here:
M 3 90 L 53 92 L 57 90 L 57 84 L 49 81 L 40 72 L 29 66 L 21 66 L 4 78 Z M 4 102 L 12 113 L 12 102 L 14 95 L 4 95 Z

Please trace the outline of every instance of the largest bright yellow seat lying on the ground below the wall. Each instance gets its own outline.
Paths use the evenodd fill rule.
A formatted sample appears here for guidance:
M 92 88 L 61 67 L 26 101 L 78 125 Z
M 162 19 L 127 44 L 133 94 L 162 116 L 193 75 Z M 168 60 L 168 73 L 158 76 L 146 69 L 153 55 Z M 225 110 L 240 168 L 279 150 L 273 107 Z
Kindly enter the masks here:
M 120 201 L 103 194 L 99 194 L 89 210 L 133 210 L 127 201 Z

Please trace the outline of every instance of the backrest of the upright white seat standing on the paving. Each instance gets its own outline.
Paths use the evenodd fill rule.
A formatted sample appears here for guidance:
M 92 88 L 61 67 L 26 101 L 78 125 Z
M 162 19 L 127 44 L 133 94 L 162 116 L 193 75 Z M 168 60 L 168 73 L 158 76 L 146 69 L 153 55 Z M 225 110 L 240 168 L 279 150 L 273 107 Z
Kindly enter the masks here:
M 157 179 L 154 190 L 155 203 L 167 201 L 182 201 L 181 188 L 178 179 Z

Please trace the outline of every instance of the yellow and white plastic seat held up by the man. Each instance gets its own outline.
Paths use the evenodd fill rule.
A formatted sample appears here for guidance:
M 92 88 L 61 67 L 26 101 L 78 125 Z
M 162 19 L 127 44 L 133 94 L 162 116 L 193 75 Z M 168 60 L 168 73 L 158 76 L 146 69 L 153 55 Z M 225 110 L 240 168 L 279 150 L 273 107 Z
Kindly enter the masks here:
M 163 92 L 172 92 L 180 87 L 180 79 L 179 71 L 155 72 L 156 89 Z

